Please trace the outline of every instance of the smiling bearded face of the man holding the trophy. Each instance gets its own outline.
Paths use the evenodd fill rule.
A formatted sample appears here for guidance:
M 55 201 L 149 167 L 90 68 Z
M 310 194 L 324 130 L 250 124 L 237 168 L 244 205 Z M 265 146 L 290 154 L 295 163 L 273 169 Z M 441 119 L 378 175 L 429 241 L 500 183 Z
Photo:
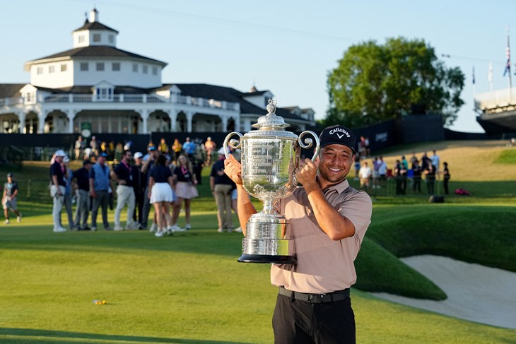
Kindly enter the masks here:
M 351 148 L 333 144 L 321 149 L 319 159 L 319 177 L 336 184 L 346 179 L 355 156 Z

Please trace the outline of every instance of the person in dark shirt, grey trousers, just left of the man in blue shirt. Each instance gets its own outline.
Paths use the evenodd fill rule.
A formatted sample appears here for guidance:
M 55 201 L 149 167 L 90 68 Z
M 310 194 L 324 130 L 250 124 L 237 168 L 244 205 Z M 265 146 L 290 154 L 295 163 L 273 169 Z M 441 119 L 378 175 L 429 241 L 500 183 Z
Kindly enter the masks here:
M 90 230 L 88 227 L 88 217 L 90 215 L 90 170 L 92 163 L 84 160 L 83 167 L 73 173 L 76 181 L 76 212 L 75 226 L 78 230 Z

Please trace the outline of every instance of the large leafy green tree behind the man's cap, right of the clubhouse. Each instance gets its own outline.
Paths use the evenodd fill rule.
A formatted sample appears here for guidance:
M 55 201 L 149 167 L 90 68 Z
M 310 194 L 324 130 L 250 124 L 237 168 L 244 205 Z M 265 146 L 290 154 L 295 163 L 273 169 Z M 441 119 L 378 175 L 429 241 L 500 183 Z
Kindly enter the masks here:
M 365 126 L 410 113 L 414 105 L 442 114 L 450 126 L 464 105 L 464 74 L 447 69 L 424 40 L 389 38 L 351 46 L 328 75 L 324 124 Z

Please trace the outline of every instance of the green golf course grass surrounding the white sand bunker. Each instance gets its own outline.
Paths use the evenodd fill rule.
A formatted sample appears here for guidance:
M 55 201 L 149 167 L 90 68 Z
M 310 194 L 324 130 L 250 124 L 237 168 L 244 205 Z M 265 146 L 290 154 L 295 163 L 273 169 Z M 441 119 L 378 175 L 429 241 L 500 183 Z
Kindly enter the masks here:
M 358 343 L 516 343 L 516 330 L 365 292 L 444 299 L 439 287 L 399 260 L 403 256 L 439 254 L 516 269 L 516 178 L 508 177 L 512 166 L 496 162 L 508 150 L 482 148 L 493 161 L 471 174 L 478 165 L 469 158 L 478 155 L 476 143 L 438 145 L 449 162 L 461 164 L 452 170 L 450 190 L 462 187 L 471 196 L 450 195 L 446 203 L 431 204 L 426 195 L 372 195 L 373 220 L 356 260 L 352 290 Z M 412 148 L 428 149 L 399 149 Z M 505 169 L 501 179 L 489 177 L 495 164 Z M 55 234 L 47 166 L 16 172 L 20 181 L 42 184 L 32 185 L 40 198 L 27 198 L 27 185 L 20 183 L 23 222 L 0 227 L 0 343 L 272 343 L 276 288 L 270 285 L 269 266 L 236 262 L 242 237 L 216 232 L 209 169 L 203 174 L 200 197 L 192 203 L 194 229 L 158 239 L 147 231 Z M 95 305 L 93 299 L 107 304 Z

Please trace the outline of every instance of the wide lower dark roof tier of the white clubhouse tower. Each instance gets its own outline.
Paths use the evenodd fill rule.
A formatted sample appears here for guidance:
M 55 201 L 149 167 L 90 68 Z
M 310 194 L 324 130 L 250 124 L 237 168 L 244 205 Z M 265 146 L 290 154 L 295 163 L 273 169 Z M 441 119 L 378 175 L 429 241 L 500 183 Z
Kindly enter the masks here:
M 149 57 L 144 57 L 139 54 L 134 54 L 133 52 L 126 52 L 125 50 L 110 47 L 108 45 L 90 45 L 88 47 L 78 47 L 66 50 L 64 52 L 58 52 L 57 54 L 52 54 L 46 57 L 41 57 L 40 59 L 28 61 L 27 64 L 34 64 L 37 61 L 47 59 L 58 59 L 59 57 L 118 57 L 130 59 L 143 59 L 156 64 L 161 64 L 162 66 L 167 65 L 166 62 L 151 59 Z

